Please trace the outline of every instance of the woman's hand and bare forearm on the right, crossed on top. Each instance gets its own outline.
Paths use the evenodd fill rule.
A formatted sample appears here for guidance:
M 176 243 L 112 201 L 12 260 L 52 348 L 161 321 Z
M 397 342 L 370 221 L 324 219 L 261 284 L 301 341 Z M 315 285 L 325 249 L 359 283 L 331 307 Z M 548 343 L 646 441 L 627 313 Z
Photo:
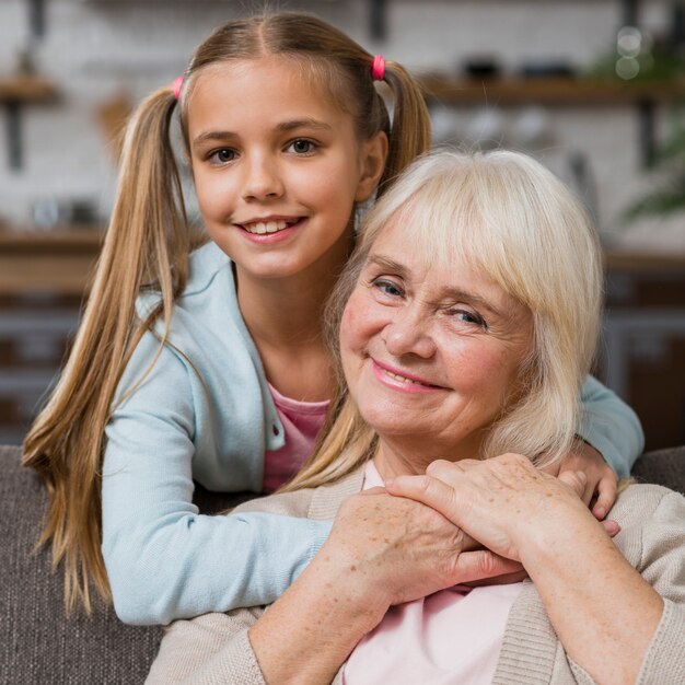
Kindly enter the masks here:
M 559 478 L 525 457 L 433 462 L 386 483 L 434 507 L 494 552 L 520 559 L 568 655 L 597 683 L 632 683 L 663 603 L 578 497 L 582 472 Z

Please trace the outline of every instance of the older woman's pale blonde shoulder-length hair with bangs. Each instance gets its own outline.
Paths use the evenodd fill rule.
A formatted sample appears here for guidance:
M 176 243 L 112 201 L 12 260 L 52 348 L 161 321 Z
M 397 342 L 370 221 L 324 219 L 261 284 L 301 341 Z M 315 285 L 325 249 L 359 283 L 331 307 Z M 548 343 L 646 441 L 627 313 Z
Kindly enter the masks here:
M 542 164 L 515 152 L 442 151 L 418 160 L 365 218 L 329 303 L 335 350 L 342 310 L 371 247 L 395 222 L 409 236 L 407 249 L 443 265 L 458 254 L 532 313 L 532 346 L 519 374 L 523 391 L 491 428 L 481 456 L 518 452 L 537 465 L 562 458 L 578 429 L 602 306 L 601 249 L 580 204 Z M 341 392 L 318 449 L 285 489 L 336 480 L 367 461 L 375 444 L 374 431 Z

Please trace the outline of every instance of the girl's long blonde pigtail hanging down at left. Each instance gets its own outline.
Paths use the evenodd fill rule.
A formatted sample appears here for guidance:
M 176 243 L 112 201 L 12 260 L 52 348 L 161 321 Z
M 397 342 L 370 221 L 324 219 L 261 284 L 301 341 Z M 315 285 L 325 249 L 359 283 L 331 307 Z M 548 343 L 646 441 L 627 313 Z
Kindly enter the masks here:
M 82 604 L 91 612 L 91 584 L 111 599 L 101 553 L 104 429 L 128 358 L 160 315 L 167 329 L 173 300 L 187 279 L 187 222 L 170 141 L 175 105 L 172 90 L 162 89 L 129 123 L 119 190 L 83 320 L 24 442 L 24 465 L 47 486 L 40 543 L 51 541 L 54 567 L 65 562 L 68 609 Z M 144 288 L 159 289 L 161 301 L 141 322 L 136 299 Z

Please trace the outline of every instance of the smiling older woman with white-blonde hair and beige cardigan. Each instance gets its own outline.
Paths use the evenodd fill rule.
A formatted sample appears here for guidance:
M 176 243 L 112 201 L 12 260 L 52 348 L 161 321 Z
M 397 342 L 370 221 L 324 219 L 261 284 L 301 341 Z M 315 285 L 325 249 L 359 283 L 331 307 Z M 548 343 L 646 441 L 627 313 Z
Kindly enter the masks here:
M 335 516 L 328 541 L 266 612 L 172 625 L 149 682 L 685 682 L 684 498 L 630 485 L 612 542 L 583 474 L 537 468 L 573 440 L 600 309 L 595 237 L 539 164 L 415 163 L 332 307 L 348 393 L 326 438 L 242 508 Z

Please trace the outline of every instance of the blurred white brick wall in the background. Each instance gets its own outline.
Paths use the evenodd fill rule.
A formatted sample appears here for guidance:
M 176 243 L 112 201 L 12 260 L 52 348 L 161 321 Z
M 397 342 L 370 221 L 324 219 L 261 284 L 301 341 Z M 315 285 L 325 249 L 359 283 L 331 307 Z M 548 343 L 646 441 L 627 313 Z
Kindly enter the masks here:
M 12 70 L 28 40 L 26 0 L 0 0 L 0 72 Z M 53 106 L 24 111 L 20 172 L 7 164 L 0 120 L 0 217 L 25 224 L 33 202 L 45 197 L 92 199 L 103 216 L 112 202 L 116 170 L 95 111 L 117 93 L 135 100 L 181 73 L 194 48 L 216 25 L 249 0 L 46 0 L 47 34 L 36 45 L 40 71 L 59 85 Z M 453 70 L 466 56 L 490 55 L 507 70 L 530 59 L 562 59 L 579 68 L 606 51 L 620 21 L 618 0 L 387 0 L 387 40 L 369 38 L 367 0 L 268 2 L 306 9 L 348 32 L 372 51 L 420 70 Z M 667 3 L 642 2 L 645 27 L 663 32 Z M 530 114 L 530 113 L 529 113 Z M 507 111 L 498 137 L 516 144 L 520 109 Z M 455 114 L 454 130 L 478 128 L 477 109 Z M 0 112 L 0 119 L 4 112 Z M 475 119 L 475 123 L 474 123 Z M 661 116 L 663 120 L 663 115 Z M 620 210 L 648 183 L 640 169 L 638 120 L 631 108 L 574 107 L 547 115 L 542 156 L 562 175 L 569 152 L 587 155 L 597 188 L 605 234 L 625 245 L 677 246 L 685 251 L 685 220 L 660 231 L 651 220 L 617 231 Z

